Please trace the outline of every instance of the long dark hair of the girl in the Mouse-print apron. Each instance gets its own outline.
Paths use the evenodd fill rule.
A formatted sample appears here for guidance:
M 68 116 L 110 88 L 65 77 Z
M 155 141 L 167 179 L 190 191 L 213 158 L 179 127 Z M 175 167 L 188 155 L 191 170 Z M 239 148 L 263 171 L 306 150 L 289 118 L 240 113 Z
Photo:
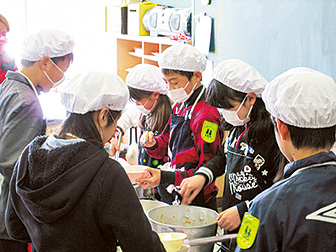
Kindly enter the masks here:
M 232 101 L 241 103 L 246 95 L 247 93 L 236 91 L 213 79 L 207 88 L 206 103 L 216 108 L 231 109 L 234 107 L 234 105 L 231 104 Z M 253 105 L 250 113 L 250 121 L 252 123 L 243 136 L 244 141 L 253 147 L 257 147 L 266 141 L 267 137 L 274 137 L 273 145 L 269 146 L 269 148 L 274 150 L 274 160 L 278 161 L 278 171 L 274 181 L 282 179 L 283 168 L 287 161 L 276 143 L 271 115 L 266 110 L 265 103 L 261 98 L 257 97 L 256 102 Z M 223 128 L 225 130 L 230 130 L 233 126 L 224 122 Z

